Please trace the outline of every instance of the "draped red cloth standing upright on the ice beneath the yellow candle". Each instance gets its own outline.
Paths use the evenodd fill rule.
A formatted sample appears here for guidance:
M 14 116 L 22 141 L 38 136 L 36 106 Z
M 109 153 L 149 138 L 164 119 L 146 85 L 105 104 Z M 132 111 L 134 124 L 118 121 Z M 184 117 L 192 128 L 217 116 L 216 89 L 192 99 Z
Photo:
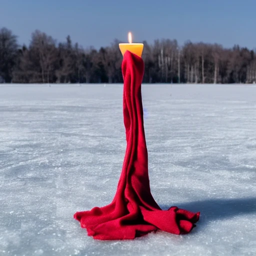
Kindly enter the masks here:
M 122 74 L 127 147 L 117 190 L 110 204 L 74 214 L 94 239 L 133 239 L 157 229 L 185 234 L 199 219 L 199 212 L 176 206 L 161 210 L 150 192 L 141 100 L 143 72 L 142 58 L 126 51 Z

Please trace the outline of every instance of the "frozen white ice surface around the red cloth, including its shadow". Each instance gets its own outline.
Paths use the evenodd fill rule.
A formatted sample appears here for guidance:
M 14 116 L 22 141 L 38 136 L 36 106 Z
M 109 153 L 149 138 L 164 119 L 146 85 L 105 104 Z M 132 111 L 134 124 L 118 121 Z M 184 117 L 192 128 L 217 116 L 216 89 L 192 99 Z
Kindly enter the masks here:
M 256 255 L 256 86 L 143 84 L 142 98 L 152 194 L 201 211 L 192 232 L 97 241 L 73 219 L 115 193 L 121 84 L 2 84 L 0 255 Z

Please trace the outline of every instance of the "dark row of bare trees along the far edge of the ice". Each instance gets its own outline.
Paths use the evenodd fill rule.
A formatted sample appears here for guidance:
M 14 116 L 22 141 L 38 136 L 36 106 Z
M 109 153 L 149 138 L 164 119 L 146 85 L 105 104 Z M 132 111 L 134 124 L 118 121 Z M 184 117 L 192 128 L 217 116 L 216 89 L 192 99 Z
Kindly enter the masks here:
M 18 45 L 11 30 L 0 29 L 0 82 L 12 83 L 120 83 L 122 55 L 119 41 L 82 48 L 70 36 L 57 43 L 35 30 L 29 45 Z M 145 83 L 254 83 L 256 52 L 234 45 L 157 39 L 144 43 Z

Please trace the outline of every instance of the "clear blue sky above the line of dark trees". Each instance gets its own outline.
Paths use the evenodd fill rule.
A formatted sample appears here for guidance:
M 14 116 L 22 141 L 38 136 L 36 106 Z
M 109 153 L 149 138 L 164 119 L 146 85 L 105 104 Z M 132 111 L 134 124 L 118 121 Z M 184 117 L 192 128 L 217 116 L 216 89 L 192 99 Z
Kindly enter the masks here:
M 83 47 L 177 39 L 256 47 L 256 0 L 0 0 L 0 27 L 28 44 L 35 29 Z

